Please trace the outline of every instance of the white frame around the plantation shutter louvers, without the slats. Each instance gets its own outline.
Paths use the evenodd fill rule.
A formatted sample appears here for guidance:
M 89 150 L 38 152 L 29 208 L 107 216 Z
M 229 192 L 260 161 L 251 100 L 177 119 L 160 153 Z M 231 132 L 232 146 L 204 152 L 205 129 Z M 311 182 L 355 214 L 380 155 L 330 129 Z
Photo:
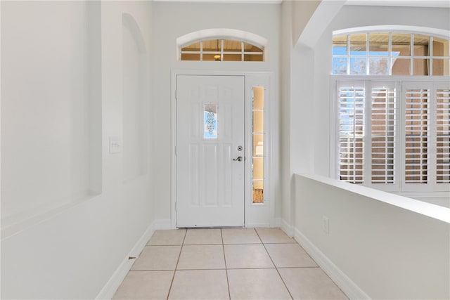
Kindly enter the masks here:
M 401 195 L 448 195 L 450 192 L 450 184 L 448 183 L 436 183 L 436 172 L 435 166 L 437 164 L 437 152 L 436 152 L 436 91 L 438 89 L 449 89 L 450 88 L 450 77 L 431 77 L 431 76 L 377 76 L 377 75 L 330 75 L 330 87 L 332 88 L 331 93 L 331 104 L 330 104 L 330 176 L 340 180 L 340 148 L 339 148 L 339 107 L 338 107 L 338 93 L 339 88 L 342 85 L 353 84 L 354 86 L 364 86 L 366 89 L 366 105 L 365 105 L 365 116 L 366 121 L 367 116 L 370 117 L 369 108 L 371 105 L 371 88 L 380 84 L 394 84 L 397 86 L 397 140 L 394 147 L 397 148 L 395 153 L 396 165 L 394 165 L 394 170 L 396 171 L 394 184 L 391 183 L 371 183 L 371 151 L 370 149 L 371 139 L 368 131 L 371 130 L 370 123 L 366 122 L 364 128 L 364 183 L 361 185 L 368 186 L 377 190 L 384 190 L 391 193 L 399 193 Z M 430 86 L 430 141 L 428 143 L 428 183 L 404 183 L 404 155 L 405 155 L 405 103 L 404 103 L 404 91 L 409 86 Z

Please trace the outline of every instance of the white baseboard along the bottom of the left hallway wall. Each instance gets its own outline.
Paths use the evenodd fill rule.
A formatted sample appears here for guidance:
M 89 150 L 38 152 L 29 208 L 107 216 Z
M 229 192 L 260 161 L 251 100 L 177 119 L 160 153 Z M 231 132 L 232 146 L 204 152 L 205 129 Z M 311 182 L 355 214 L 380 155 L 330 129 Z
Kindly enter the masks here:
M 110 280 L 106 282 L 106 285 L 101 289 L 100 293 L 96 296 L 96 299 L 100 300 L 110 300 L 113 298 L 115 292 L 117 291 L 117 288 L 119 288 L 120 284 L 124 280 L 125 276 L 127 276 L 129 270 L 131 269 L 131 266 L 133 266 L 134 259 L 128 259 L 128 257 L 138 257 L 139 254 L 141 254 L 142 249 L 146 247 L 146 244 L 148 240 L 150 240 L 150 237 L 155 232 L 155 223 L 153 222 L 148 226 L 147 230 L 141 238 L 139 238 L 138 242 L 134 245 L 134 247 L 131 249 L 127 257 L 120 263 L 120 266 L 115 270 L 113 275 L 111 276 Z

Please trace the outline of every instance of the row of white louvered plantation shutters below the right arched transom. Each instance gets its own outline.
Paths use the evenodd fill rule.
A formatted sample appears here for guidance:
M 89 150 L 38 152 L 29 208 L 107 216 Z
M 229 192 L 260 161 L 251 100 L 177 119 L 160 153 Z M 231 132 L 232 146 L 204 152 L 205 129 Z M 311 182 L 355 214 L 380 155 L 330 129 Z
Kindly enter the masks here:
M 389 192 L 450 191 L 450 84 L 337 81 L 340 180 Z

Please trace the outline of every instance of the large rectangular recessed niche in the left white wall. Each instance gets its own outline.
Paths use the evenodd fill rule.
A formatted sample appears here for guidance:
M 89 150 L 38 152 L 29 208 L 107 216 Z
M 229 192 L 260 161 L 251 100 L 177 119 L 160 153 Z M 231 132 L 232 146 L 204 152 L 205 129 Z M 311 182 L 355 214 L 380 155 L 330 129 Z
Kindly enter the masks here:
M 89 74 L 86 4 L 5 2 L 2 6 L 1 218 L 5 226 L 90 190 L 98 193 L 101 185 L 89 182 L 89 157 L 94 155 L 89 130 L 96 130 L 89 118 L 89 100 L 96 99 L 89 98 L 85 76 Z M 58 13 L 49 15 L 53 9 Z

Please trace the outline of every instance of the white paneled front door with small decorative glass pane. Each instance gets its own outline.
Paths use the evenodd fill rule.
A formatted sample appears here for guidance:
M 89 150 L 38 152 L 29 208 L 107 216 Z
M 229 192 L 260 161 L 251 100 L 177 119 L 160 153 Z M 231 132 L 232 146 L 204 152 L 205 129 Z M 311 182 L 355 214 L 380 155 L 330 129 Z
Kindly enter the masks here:
M 176 76 L 176 226 L 244 226 L 244 77 Z

